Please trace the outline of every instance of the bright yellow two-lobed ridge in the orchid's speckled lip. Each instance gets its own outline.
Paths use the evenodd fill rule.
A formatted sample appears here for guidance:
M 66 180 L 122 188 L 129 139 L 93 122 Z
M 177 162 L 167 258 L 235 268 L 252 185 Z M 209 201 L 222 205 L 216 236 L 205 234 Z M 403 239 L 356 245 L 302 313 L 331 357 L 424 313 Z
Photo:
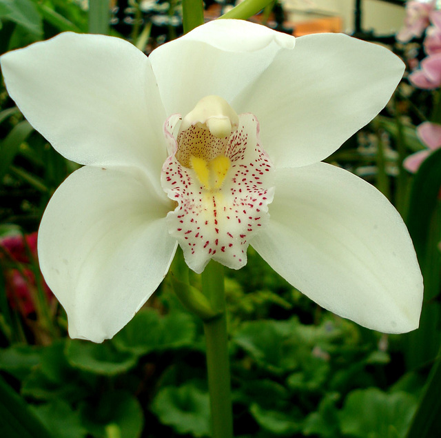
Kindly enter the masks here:
M 196 173 L 198 181 L 209 192 L 215 192 L 222 187 L 231 161 L 225 155 L 218 155 L 211 161 L 205 161 L 201 157 L 190 157 L 190 165 Z

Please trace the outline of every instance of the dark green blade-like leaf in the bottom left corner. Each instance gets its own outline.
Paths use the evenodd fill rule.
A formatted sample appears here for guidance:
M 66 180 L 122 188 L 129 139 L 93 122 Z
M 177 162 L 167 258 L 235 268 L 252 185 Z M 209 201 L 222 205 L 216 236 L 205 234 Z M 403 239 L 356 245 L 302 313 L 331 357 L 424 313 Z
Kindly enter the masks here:
M 25 401 L 0 377 L 0 436 L 53 438 Z

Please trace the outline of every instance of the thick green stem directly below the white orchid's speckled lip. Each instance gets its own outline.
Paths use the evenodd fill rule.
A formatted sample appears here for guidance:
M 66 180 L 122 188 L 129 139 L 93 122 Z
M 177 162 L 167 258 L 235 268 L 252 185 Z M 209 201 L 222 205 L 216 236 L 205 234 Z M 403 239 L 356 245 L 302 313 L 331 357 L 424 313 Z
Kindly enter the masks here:
M 204 321 L 212 438 L 233 437 L 231 381 L 223 266 L 210 261 L 202 273 L 202 292 L 220 316 Z

